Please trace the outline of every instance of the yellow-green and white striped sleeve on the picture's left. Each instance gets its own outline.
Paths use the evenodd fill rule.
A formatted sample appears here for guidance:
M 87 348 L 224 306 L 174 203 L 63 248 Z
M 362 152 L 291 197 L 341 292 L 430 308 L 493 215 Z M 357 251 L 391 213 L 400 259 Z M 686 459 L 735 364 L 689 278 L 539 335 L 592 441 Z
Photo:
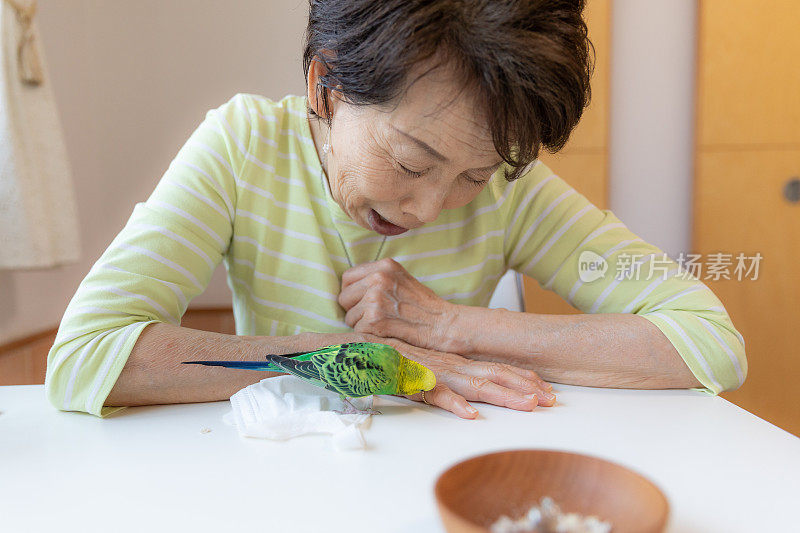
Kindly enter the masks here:
M 45 390 L 67 411 L 104 416 L 139 334 L 179 325 L 226 253 L 236 182 L 246 165 L 252 118 L 237 94 L 206 114 L 72 297 L 47 358 Z

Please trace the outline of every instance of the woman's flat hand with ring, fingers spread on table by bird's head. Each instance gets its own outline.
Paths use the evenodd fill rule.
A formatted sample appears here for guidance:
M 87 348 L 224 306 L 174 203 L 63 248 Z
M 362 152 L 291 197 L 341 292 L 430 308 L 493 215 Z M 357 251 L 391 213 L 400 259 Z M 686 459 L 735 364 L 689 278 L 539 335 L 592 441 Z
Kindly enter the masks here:
M 555 403 L 553 387 L 533 370 L 505 363 L 474 361 L 458 354 L 419 348 L 398 339 L 361 335 L 365 342 L 393 346 L 404 356 L 428 367 L 436 375 L 436 386 L 425 391 L 425 401 L 461 418 L 477 418 L 470 401 L 533 411 L 537 405 Z M 422 394 L 403 395 L 422 401 Z

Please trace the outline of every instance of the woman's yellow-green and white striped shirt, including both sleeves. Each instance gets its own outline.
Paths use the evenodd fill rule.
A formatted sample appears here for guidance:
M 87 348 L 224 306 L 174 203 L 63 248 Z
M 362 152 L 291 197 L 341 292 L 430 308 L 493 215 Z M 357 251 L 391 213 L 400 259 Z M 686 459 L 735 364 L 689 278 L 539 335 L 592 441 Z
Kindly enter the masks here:
M 104 401 L 141 331 L 179 325 L 220 261 L 237 334 L 350 331 L 337 302 L 347 256 L 371 261 L 382 240 L 331 197 L 305 98 L 237 94 L 206 114 L 81 282 L 48 355 L 48 398 L 110 412 Z M 512 183 L 498 171 L 468 205 L 388 237 L 386 256 L 470 306 L 486 306 L 507 269 L 523 272 L 584 312 L 650 320 L 702 390 L 744 380 L 744 342 L 711 290 L 540 161 Z M 587 277 L 603 262 L 605 275 Z

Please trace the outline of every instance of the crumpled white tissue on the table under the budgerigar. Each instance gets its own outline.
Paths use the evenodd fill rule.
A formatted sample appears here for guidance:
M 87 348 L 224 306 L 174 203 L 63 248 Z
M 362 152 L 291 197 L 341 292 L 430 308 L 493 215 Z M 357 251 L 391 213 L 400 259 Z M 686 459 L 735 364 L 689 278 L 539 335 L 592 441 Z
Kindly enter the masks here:
M 350 398 L 359 409 L 372 407 L 374 396 Z M 263 379 L 231 396 L 233 410 L 223 420 L 243 437 L 287 440 L 310 433 L 327 433 L 336 450 L 366 447 L 362 427 L 370 415 L 339 414 L 346 405 L 335 392 L 295 376 Z

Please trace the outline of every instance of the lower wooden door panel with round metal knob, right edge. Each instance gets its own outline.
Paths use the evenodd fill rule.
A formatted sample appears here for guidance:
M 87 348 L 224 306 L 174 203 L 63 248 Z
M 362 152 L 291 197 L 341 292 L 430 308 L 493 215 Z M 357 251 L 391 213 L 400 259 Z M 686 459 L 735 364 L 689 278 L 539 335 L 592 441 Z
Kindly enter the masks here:
M 763 256 L 756 280 L 704 279 L 745 339 L 747 380 L 723 396 L 800 435 L 800 203 L 782 195 L 800 150 L 702 152 L 696 170 L 695 252 Z

